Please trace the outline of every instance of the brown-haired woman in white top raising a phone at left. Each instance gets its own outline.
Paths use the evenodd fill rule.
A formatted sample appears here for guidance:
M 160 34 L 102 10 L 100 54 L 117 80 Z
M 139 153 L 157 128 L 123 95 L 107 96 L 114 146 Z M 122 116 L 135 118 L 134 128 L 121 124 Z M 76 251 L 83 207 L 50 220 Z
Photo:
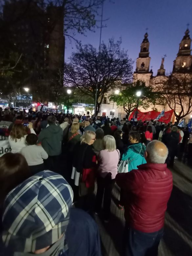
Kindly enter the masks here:
M 21 123 L 14 124 L 9 136 L 9 143 L 12 153 L 18 153 L 22 148 L 27 146 L 26 137 L 30 133 L 35 133 L 33 130 L 33 124 L 30 122 L 28 127 L 25 127 Z

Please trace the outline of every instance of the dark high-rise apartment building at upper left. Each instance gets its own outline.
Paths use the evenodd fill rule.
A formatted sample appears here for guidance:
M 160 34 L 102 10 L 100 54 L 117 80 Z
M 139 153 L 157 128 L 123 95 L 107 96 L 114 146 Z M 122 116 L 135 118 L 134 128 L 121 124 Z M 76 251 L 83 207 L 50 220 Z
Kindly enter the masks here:
M 15 49 L 37 69 L 63 67 L 63 18 L 61 7 L 41 6 L 41 1 L 35 0 L 12 1 L 3 10 Z

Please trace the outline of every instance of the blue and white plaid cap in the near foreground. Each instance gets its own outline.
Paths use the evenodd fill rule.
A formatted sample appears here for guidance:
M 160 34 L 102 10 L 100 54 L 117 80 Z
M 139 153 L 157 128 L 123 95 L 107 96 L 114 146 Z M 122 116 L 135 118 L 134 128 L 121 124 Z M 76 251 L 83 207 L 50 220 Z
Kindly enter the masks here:
M 65 233 L 73 190 L 59 174 L 39 172 L 6 197 L 3 242 L 17 252 L 34 252 L 55 243 Z

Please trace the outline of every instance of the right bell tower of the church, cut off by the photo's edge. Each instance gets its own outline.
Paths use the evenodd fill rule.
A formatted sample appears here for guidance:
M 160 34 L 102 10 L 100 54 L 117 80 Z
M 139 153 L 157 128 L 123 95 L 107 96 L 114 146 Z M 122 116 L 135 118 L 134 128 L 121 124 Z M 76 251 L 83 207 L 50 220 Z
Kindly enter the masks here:
M 191 73 L 192 72 L 192 55 L 191 55 L 191 38 L 189 29 L 179 45 L 177 58 L 173 62 L 173 73 Z

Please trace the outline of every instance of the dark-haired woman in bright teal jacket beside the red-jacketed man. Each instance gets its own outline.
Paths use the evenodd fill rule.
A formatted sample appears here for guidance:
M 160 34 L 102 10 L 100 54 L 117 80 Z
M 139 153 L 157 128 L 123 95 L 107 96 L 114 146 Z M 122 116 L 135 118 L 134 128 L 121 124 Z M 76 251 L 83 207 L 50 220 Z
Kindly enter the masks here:
M 128 160 L 128 172 L 138 169 L 138 165 L 146 163 L 144 158 L 146 148 L 142 143 L 140 143 L 140 133 L 130 132 L 129 142 L 131 145 L 128 146 L 127 151 L 123 154 L 121 159 L 123 161 Z

